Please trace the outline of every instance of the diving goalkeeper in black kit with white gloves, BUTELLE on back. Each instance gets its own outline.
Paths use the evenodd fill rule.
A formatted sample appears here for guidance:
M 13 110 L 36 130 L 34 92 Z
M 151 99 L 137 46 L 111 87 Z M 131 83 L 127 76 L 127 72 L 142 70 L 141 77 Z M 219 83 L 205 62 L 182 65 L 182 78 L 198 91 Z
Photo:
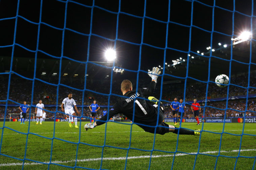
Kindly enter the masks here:
M 84 128 L 87 131 L 88 129 L 95 128 L 96 126 L 102 125 L 107 121 L 107 119 L 110 119 L 116 114 L 122 113 L 126 117 L 128 117 L 130 120 L 133 120 L 133 107 L 135 106 L 135 112 L 134 112 L 134 120 L 133 123 L 138 123 L 137 125 L 141 127 L 146 132 L 155 133 L 155 127 L 148 127 L 149 126 L 156 126 L 156 133 L 157 134 L 165 134 L 168 132 L 176 133 L 178 134 L 178 128 L 168 125 L 164 123 L 164 105 L 155 97 L 148 97 L 148 99 L 151 102 L 147 102 L 145 100 L 145 96 L 149 96 L 153 93 L 155 87 L 158 75 L 161 72 L 159 71 L 159 68 L 154 67 L 152 70 L 152 73 L 149 72 L 149 76 L 152 78 L 152 82 L 150 83 L 149 88 L 139 88 L 138 91 L 132 90 L 132 83 L 129 80 L 124 80 L 121 84 L 121 91 L 123 92 L 123 96 L 126 96 L 128 98 L 121 98 L 118 100 L 113 108 L 110 109 L 109 113 L 102 118 L 99 119 L 99 121 L 96 121 L 95 123 L 87 123 Z M 136 98 L 140 97 L 140 98 Z M 134 101 L 135 100 L 135 101 Z M 134 105 L 135 102 L 135 105 Z M 154 105 L 152 105 L 152 102 Z M 160 105 L 159 108 L 159 114 L 158 114 L 158 104 Z M 157 117 L 158 122 L 157 122 Z M 199 129 L 196 131 L 187 130 L 184 128 L 180 128 L 179 134 L 187 134 L 187 135 L 200 135 Z

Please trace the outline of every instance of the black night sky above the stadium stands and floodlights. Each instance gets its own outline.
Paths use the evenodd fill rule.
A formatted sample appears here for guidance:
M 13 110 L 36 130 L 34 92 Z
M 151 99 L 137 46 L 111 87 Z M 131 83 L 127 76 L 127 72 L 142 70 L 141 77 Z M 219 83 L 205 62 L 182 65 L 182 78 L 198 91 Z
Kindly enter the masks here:
M 74 0 L 73 2 L 78 2 L 88 6 L 93 5 L 93 1 L 90 0 Z M 67 4 L 66 28 L 82 34 L 89 34 L 92 8 L 82 6 L 73 2 L 70 1 Z M 144 27 L 142 28 L 142 17 L 144 15 L 145 5 L 144 2 L 145 1 L 143 0 L 121 1 L 121 13 L 119 14 L 118 20 L 117 38 L 123 41 L 116 41 L 116 51 L 118 57 L 118 65 L 124 69 L 138 70 L 140 46 L 131 43 L 141 43 L 142 29 L 143 43 L 145 44 L 141 46 L 141 70 L 147 71 L 154 66 L 164 65 L 163 48 L 165 48 L 166 46 L 167 24 L 162 22 L 168 21 L 169 1 L 147 1 L 147 17 L 144 19 Z M 199 2 L 202 2 L 204 4 Z M 192 2 L 182 0 L 170 0 L 170 23 L 168 24 L 167 31 L 167 47 L 185 52 L 167 49 L 166 62 L 168 64 L 172 64 L 171 60 L 175 60 L 179 57 L 187 58 L 187 52 L 189 51 L 190 27 L 186 26 L 191 25 L 192 4 L 193 27 L 191 29 L 190 48 L 192 52 L 190 52 L 190 54 L 193 54 L 193 52 L 196 53 L 197 50 L 199 50 L 200 52 L 207 52 L 206 47 L 211 45 L 211 33 L 203 31 L 201 29 L 212 31 L 213 8 L 206 5 L 213 6 L 214 1 L 200 0 Z M 256 15 L 255 4 L 256 3 L 254 3 L 253 7 L 253 15 Z M 117 14 L 110 13 L 105 10 L 118 12 L 119 0 L 95 0 L 94 5 L 95 6 L 93 8 L 92 17 L 92 34 L 97 34 L 98 36 L 115 40 L 117 34 Z M 235 11 L 237 12 L 234 13 L 234 35 L 239 35 L 245 30 L 250 31 L 251 18 L 240 13 L 251 15 L 252 1 L 236 0 L 235 4 L 233 4 L 233 0 L 216 0 L 215 5 L 218 7 L 214 8 L 214 31 L 220 33 L 213 33 L 213 48 L 219 48 L 219 42 L 221 42 L 222 44 L 231 43 L 232 12 L 226 11 L 224 9 L 233 10 L 233 7 L 235 5 Z M 102 10 L 100 8 L 104 8 L 105 10 Z M 15 18 L 7 20 L 1 19 L 15 17 L 16 12 L 17 1 L 0 0 L 0 47 L 11 45 L 13 43 L 15 24 Z M 124 12 L 138 17 L 127 15 Z M 31 22 L 39 23 L 39 14 L 40 0 L 20 1 L 20 16 L 30 20 Z M 22 17 L 18 17 L 16 43 L 30 50 L 36 50 L 38 25 L 29 23 Z M 40 37 L 38 46 L 39 50 L 42 50 L 45 53 L 57 57 L 61 56 L 63 31 L 51 28 L 46 24 L 63 29 L 64 18 L 65 3 L 57 0 L 43 0 L 41 17 L 42 23 L 40 25 Z M 156 20 L 153 20 L 151 18 Z M 255 22 L 255 17 L 253 17 L 253 38 L 255 38 Z M 67 56 L 69 58 L 79 61 L 86 61 L 88 51 L 88 36 L 81 35 L 67 29 L 65 30 L 64 35 L 63 56 Z M 221 33 L 230 36 L 226 36 Z M 109 41 L 98 36 L 91 36 L 89 61 L 106 61 L 106 59 L 104 58 L 104 50 L 108 47 L 114 47 L 115 41 Z M 131 43 L 124 41 L 128 41 Z M 159 47 L 161 49 L 151 47 L 150 45 L 154 47 Z M 11 56 L 11 50 L 12 47 L 0 48 L 0 56 Z M 14 57 L 35 58 L 35 53 L 29 52 L 26 49 L 15 45 Z M 249 56 L 246 57 L 248 58 Z M 42 52 L 38 52 L 38 58 L 51 57 L 43 54 Z M 241 60 L 243 60 L 243 58 Z M 226 68 L 229 67 L 229 63 L 226 63 L 225 65 Z M 208 63 L 206 62 L 205 67 L 207 66 Z M 108 69 L 108 71 L 110 73 L 110 69 Z M 243 71 L 248 72 L 248 69 L 245 69 Z M 126 72 L 125 74 L 129 75 L 129 72 Z

